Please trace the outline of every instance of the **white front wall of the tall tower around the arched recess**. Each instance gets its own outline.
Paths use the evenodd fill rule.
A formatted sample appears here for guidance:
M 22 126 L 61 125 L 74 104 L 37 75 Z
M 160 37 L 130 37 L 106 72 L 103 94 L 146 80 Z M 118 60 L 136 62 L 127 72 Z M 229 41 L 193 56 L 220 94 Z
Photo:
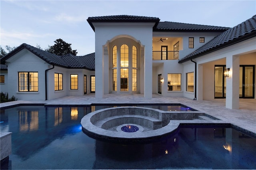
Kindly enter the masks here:
M 144 47 L 144 61 L 141 61 L 144 67 L 140 71 L 144 71 L 144 77 L 140 77 L 144 81 L 144 88 L 140 89 L 140 93 L 144 93 L 144 97 L 152 97 L 152 27 L 154 23 L 93 23 L 95 27 L 95 78 L 96 78 L 96 98 L 102 98 L 105 91 L 105 84 L 109 91 L 109 70 L 108 51 L 106 47 L 108 42 L 112 42 L 117 38 L 127 37 L 140 43 Z M 143 75 L 143 74 L 141 74 Z

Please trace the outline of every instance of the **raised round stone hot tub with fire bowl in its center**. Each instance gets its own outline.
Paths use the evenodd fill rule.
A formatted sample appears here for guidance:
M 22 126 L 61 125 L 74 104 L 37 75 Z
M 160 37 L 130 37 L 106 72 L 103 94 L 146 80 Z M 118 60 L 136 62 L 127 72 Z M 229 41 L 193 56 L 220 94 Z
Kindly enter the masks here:
M 162 127 L 162 113 L 146 107 L 113 107 L 94 111 L 81 120 L 82 130 L 98 140 L 133 143 L 150 142 L 174 128 Z M 172 124 L 177 128 L 178 123 Z

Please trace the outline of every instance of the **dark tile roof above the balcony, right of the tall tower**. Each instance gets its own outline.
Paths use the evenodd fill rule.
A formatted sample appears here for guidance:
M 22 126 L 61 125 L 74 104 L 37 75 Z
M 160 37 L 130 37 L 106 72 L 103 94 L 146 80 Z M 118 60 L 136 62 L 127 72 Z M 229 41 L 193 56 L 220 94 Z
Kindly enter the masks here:
M 224 32 L 229 27 L 207 26 L 199 24 L 185 24 L 180 22 L 159 22 L 155 32 Z

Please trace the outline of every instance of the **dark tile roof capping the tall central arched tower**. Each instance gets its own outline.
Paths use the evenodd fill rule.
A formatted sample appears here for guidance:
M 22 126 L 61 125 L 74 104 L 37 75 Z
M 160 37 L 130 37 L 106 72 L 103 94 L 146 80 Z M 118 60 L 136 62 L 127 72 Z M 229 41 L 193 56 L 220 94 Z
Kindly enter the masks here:
M 132 15 L 114 15 L 114 16 L 96 16 L 88 17 L 87 22 L 95 31 L 95 27 L 92 22 L 155 22 L 154 27 L 157 26 L 160 19 L 156 17 L 146 17 L 146 16 L 132 16 Z

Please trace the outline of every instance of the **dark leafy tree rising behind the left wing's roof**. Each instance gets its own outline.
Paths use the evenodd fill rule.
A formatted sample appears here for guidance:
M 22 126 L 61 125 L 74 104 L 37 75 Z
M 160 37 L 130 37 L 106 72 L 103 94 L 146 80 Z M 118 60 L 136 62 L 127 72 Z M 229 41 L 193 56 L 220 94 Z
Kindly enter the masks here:
M 45 51 L 56 55 L 77 54 L 76 50 L 72 50 L 71 43 L 66 43 L 62 39 L 57 39 L 54 42 L 55 44 L 46 48 Z

